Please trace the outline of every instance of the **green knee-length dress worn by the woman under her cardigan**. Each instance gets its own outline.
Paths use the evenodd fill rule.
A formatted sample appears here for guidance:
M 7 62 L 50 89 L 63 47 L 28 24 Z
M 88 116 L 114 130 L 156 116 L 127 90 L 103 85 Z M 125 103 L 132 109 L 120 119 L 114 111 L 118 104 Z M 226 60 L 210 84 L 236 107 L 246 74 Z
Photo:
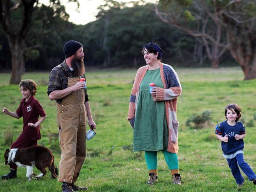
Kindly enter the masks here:
M 154 102 L 149 83 L 163 88 L 160 68 L 148 70 L 141 81 L 134 122 L 134 151 L 160 151 L 168 146 L 164 102 Z

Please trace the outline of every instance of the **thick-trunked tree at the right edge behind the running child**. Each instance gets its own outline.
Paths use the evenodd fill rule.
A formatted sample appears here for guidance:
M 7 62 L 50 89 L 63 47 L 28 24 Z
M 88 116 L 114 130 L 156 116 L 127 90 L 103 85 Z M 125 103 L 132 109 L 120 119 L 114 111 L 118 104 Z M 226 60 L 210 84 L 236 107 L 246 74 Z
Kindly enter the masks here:
M 241 66 L 245 80 L 256 78 L 256 0 L 219 2 L 228 49 Z M 220 21 L 220 23 L 221 23 Z

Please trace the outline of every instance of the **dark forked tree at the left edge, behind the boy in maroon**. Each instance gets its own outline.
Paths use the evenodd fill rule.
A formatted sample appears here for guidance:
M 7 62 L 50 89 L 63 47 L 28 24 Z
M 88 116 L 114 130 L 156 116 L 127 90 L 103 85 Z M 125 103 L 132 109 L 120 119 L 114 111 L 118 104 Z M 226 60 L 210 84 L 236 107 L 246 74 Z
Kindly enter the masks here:
M 69 0 L 77 2 L 77 0 Z M 61 0 L 49 0 L 50 6 L 59 6 Z M 28 48 L 28 32 L 31 28 L 32 13 L 41 6 L 38 0 L 1 0 L 0 22 L 6 33 L 11 50 L 11 79 L 10 84 L 18 84 L 25 71 L 24 52 Z M 78 4 L 79 6 L 79 4 Z M 65 10 L 63 10 L 65 12 Z

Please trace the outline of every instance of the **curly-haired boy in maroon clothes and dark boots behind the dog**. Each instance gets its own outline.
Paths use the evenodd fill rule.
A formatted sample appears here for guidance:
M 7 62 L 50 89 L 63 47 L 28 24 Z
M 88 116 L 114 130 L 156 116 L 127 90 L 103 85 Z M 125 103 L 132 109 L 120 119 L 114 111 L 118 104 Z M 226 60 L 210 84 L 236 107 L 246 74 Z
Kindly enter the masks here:
M 32 79 L 20 81 L 20 92 L 23 96 L 20 106 L 16 112 L 9 111 L 6 107 L 3 113 L 19 119 L 23 116 L 23 130 L 20 136 L 11 145 L 13 148 L 26 148 L 37 145 L 37 140 L 41 139 L 39 125 L 46 119 L 45 111 L 40 103 L 34 98 L 37 93 L 37 84 Z M 41 118 L 38 120 L 39 115 Z M 17 178 L 17 165 L 10 164 L 9 174 L 2 175 L 2 179 Z

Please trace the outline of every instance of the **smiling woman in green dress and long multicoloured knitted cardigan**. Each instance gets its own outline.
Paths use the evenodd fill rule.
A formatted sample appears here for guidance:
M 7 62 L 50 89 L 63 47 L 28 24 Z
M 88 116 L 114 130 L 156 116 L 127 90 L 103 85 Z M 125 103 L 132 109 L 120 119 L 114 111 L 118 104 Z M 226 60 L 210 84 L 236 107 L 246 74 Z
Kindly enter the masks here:
M 178 168 L 177 97 L 182 88 L 170 65 L 161 63 L 163 50 L 150 42 L 142 48 L 147 63 L 137 71 L 132 88 L 128 120 L 134 128 L 134 151 L 145 151 L 148 185 L 158 181 L 157 151 L 163 151 L 174 184 L 181 185 Z M 155 83 L 149 93 L 149 84 Z

